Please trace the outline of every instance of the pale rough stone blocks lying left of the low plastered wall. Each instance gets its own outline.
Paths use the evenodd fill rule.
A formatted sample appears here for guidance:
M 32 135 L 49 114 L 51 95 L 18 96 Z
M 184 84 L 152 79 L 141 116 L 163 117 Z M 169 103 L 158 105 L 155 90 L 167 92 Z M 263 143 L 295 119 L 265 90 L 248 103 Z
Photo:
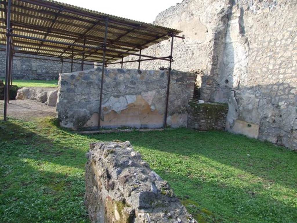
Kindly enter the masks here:
M 22 87 L 18 89 L 16 100 L 34 99 L 47 106 L 56 106 L 58 96 L 57 88 Z

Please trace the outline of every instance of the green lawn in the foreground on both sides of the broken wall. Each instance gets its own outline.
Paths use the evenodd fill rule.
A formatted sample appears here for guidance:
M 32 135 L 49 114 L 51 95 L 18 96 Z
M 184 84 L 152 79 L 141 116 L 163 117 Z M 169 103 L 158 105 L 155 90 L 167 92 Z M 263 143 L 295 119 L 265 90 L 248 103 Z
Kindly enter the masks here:
M 89 143 L 129 140 L 200 223 L 297 222 L 297 153 L 227 132 L 79 135 L 55 119 L 0 122 L 0 222 L 89 222 Z

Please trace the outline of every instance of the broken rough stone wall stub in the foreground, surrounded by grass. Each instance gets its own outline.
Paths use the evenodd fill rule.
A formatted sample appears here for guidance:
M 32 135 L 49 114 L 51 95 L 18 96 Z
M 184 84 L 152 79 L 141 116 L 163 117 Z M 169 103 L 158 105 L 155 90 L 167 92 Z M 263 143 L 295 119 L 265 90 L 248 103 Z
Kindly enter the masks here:
M 128 141 L 91 144 L 85 204 L 94 223 L 197 223 Z

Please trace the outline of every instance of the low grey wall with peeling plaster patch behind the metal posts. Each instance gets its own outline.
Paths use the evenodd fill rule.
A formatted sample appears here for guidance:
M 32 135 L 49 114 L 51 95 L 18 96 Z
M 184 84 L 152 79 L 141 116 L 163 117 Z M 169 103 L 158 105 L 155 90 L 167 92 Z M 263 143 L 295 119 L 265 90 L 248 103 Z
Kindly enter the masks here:
M 63 127 L 96 129 L 102 68 L 63 73 L 59 79 L 57 114 Z M 159 128 L 163 125 L 168 71 L 106 69 L 102 127 Z M 195 75 L 171 72 L 167 123 L 187 126 L 187 106 Z

